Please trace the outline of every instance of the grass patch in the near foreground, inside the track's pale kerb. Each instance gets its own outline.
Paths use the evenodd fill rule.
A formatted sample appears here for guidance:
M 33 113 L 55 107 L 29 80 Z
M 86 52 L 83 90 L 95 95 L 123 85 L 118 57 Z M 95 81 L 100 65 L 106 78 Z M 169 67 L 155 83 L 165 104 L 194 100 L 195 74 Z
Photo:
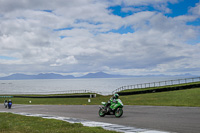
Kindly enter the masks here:
M 61 120 L 0 113 L 1 133 L 116 133 L 101 127 L 85 127 Z

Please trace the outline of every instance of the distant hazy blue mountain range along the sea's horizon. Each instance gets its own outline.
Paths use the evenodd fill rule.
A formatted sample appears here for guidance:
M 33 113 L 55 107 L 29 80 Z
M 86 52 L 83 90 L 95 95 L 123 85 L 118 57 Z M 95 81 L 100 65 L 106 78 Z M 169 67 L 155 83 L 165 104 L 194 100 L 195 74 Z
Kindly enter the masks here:
M 126 77 L 164 77 L 169 75 L 145 75 L 145 76 L 129 76 L 129 75 L 113 75 L 107 74 L 104 72 L 97 73 L 88 73 L 86 75 L 80 77 L 74 77 L 73 75 L 61 75 L 55 73 L 40 73 L 38 75 L 26 75 L 26 74 L 12 74 L 5 77 L 0 77 L 0 80 L 25 80 L 25 79 L 80 79 L 80 78 L 126 78 Z M 191 77 L 194 75 L 191 74 L 183 74 L 183 75 L 175 75 L 175 76 L 183 76 L 183 77 Z

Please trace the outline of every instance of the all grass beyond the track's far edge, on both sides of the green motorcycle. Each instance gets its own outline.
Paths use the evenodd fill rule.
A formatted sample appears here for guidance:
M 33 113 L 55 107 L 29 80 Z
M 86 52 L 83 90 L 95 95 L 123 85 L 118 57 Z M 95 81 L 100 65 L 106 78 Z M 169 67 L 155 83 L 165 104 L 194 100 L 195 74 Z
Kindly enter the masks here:
M 11 98 L 13 104 L 40 105 L 100 105 L 111 96 L 97 95 L 96 98 Z M 0 98 L 3 103 L 5 98 Z M 120 96 L 124 105 L 153 105 L 153 106 L 189 106 L 200 107 L 200 88 Z M 29 103 L 31 101 L 31 103 Z

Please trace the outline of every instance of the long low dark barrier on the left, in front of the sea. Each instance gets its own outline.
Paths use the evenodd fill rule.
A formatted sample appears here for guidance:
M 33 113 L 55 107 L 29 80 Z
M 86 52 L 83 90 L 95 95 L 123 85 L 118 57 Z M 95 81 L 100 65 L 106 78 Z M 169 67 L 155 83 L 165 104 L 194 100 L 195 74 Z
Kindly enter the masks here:
M 63 96 L 13 96 L 14 98 L 95 98 L 96 94 Z

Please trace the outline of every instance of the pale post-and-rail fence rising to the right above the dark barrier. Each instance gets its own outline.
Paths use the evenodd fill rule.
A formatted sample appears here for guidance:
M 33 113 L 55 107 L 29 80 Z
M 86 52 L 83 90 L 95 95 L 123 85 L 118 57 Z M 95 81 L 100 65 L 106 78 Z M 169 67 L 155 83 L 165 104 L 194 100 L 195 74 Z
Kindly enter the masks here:
M 200 81 L 200 77 L 167 80 L 167 81 L 159 81 L 159 82 L 151 82 L 151 83 L 143 83 L 143 84 L 135 84 L 135 85 L 127 85 L 127 86 L 122 86 L 122 87 L 114 90 L 112 93 L 115 94 L 119 91 L 130 90 L 130 89 L 161 87 L 161 86 L 168 86 L 168 85 L 178 85 L 178 84 L 184 84 L 184 83 L 192 83 L 192 82 L 198 82 L 198 81 Z

